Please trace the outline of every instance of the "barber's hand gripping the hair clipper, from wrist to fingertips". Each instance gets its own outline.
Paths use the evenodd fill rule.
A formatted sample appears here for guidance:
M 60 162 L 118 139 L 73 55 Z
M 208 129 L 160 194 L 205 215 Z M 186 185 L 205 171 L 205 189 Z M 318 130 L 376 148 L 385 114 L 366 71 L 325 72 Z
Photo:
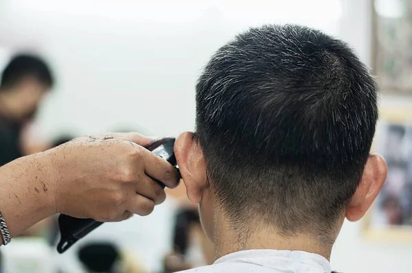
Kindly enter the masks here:
M 141 145 L 141 134 L 82 137 L 47 151 L 56 213 L 117 222 L 148 215 L 165 200 L 154 180 L 176 187 L 179 176 L 167 161 Z

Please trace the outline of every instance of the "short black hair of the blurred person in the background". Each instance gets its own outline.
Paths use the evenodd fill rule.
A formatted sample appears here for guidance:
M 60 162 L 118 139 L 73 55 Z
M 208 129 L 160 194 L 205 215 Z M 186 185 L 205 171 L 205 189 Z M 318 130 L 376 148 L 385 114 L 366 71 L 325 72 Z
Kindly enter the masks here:
M 10 60 L 1 75 L 1 87 L 8 88 L 31 76 L 48 87 L 54 84 L 54 78 L 45 60 L 30 54 L 19 54 Z

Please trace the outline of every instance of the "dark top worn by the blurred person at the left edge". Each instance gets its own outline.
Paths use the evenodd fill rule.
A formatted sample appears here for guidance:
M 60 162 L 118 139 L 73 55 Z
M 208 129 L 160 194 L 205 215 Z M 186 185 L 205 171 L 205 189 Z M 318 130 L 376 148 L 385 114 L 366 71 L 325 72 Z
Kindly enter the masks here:
M 0 166 L 23 156 L 19 145 L 21 126 L 0 119 Z

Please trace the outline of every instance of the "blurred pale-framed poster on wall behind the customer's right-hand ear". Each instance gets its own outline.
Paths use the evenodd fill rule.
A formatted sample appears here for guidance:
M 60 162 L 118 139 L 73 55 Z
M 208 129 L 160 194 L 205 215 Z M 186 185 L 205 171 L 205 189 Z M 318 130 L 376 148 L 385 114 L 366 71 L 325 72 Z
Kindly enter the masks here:
M 412 241 L 412 109 L 383 109 L 372 151 L 388 166 L 387 179 L 369 209 L 365 235 Z

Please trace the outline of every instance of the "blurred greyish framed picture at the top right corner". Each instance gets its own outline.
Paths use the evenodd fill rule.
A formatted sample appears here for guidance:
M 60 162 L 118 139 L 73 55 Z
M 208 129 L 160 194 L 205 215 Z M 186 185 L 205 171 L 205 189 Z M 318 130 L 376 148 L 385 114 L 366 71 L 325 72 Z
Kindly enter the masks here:
M 372 69 L 380 91 L 412 95 L 412 1 L 372 2 Z

